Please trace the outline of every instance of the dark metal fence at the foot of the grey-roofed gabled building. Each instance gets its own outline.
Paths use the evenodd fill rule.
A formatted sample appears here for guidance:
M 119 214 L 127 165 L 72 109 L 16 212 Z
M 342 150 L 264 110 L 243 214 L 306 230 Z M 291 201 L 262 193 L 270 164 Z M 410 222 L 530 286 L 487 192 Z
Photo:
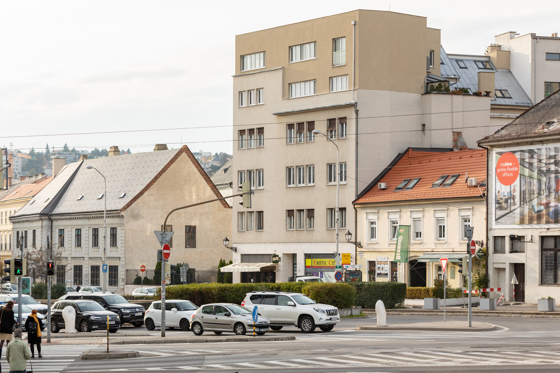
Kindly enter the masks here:
M 179 269 L 179 268 L 176 268 Z M 195 270 L 189 268 L 186 276 L 181 281 L 179 271 L 171 276 L 171 285 L 180 284 L 201 284 L 203 282 L 229 282 L 231 273 L 222 273 L 214 270 Z M 127 285 L 161 285 L 161 271 L 146 270 L 127 270 Z

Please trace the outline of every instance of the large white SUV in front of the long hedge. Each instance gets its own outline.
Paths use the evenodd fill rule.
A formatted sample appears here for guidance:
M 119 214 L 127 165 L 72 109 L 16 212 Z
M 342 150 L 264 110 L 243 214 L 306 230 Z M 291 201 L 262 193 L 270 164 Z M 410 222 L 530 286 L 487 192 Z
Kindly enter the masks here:
M 249 310 L 258 306 L 259 315 L 270 320 L 272 330 L 293 325 L 304 333 L 313 332 L 315 327 L 329 332 L 340 321 L 338 308 L 291 291 L 248 292 L 241 305 Z

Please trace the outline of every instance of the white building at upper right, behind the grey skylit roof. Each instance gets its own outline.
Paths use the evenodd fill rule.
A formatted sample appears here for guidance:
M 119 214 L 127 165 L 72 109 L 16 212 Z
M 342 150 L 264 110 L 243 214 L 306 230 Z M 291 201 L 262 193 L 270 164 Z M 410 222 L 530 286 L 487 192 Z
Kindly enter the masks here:
M 515 31 L 494 37 L 488 56 L 503 60 L 515 75 L 531 101 L 539 102 L 560 88 L 560 37 L 536 34 L 519 35 Z

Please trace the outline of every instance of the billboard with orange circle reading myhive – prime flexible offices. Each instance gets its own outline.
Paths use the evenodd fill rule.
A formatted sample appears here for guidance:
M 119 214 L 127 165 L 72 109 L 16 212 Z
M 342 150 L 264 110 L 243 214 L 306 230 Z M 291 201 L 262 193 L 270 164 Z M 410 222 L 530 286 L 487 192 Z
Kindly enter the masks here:
M 494 228 L 560 227 L 560 144 L 494 149 L 491 162 Z

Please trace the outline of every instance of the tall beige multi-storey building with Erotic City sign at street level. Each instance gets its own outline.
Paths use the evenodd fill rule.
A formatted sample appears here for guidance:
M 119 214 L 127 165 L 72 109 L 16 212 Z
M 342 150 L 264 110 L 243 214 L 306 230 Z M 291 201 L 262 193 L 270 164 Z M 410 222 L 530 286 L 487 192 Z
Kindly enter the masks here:
M 497 129 L 491 97 L 426 93 L 431 75 L 440 30 L 425 17 L 356 10 L 236 36 L 234 183 L 255 195 L 251 209 L 234 199 L 234 262 L 280 263 L 234 281 L 330 276 L 336 232 L 356 263 L 343 239 L 357 230 L 352 201 L 386 164 L 408 147 L 449 147 L 454 132 L 474 148 Z

